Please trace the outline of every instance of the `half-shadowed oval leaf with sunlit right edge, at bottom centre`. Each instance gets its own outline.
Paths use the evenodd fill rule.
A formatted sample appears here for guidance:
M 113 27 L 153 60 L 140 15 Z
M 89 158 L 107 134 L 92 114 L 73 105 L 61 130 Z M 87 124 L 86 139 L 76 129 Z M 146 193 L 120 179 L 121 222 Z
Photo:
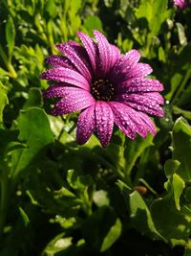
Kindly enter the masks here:
M 103 206 L 84 222 L 81 231 L 87 244 L 103 252 L 117 241 L 121 228 L 121 222 L 112 208 Z

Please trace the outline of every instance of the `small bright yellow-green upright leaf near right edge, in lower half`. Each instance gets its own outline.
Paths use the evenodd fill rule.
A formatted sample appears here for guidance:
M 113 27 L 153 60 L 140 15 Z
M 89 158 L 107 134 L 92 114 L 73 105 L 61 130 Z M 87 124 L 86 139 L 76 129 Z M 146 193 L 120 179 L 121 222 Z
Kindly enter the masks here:
M 180 210 L 180 195 L 185 187 L 185 183 L 180 177 L 180 175 L 174 174 L 172 185 L 174 191 L 175 204 L 177 209 Z

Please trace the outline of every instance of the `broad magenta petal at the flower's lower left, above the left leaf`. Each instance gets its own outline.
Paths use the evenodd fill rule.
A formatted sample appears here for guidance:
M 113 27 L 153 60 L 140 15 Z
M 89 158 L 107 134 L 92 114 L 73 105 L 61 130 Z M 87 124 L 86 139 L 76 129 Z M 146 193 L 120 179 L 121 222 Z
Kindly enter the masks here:
M 63 87 L 63 89 L 65 97 L 54 105 L 53 115 L 74 113 L 95 104 L 95 99 L 88 91 L 74 87 Z

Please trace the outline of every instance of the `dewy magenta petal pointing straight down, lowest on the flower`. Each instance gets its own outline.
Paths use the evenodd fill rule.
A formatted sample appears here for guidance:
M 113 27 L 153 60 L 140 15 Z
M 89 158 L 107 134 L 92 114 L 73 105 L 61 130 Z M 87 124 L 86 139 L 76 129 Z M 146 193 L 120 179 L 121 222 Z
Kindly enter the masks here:
M 114 115 L 110 105 L 106 102 L 96 102 L 96 133 L 102 147 L 106 147 L 112 136 Z

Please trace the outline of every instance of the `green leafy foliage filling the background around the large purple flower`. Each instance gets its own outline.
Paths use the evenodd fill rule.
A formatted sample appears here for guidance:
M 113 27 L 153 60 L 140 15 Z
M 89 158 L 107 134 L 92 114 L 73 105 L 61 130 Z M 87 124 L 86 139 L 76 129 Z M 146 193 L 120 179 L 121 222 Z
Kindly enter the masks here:
M 190 16 L 167 0 L 1 0 L 1 256 L 191 255 Z M 164 84 L 155 138 L 79 147 L 76 115 L 48 114 L 45 58 L 93 30 Z

